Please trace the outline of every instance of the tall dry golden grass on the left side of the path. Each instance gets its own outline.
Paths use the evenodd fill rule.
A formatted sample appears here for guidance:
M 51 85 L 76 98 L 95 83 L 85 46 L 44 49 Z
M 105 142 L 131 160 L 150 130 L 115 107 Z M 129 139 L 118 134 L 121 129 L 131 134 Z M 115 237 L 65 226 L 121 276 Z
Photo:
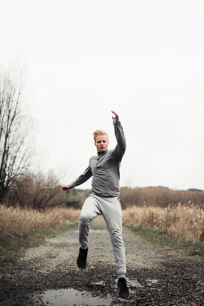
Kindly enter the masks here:
M 0 205 L 0 237 L 27 234 L 39 228 L 78 220 L 79 210 L 73 208 L 47 209 L 44 212 Z

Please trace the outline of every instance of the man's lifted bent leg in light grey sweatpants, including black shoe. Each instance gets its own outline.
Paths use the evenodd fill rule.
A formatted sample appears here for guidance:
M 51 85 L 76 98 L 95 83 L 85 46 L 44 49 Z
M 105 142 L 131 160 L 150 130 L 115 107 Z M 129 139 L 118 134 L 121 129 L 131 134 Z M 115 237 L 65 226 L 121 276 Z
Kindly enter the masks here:
M 99 214 L 97 200 L 92 196 L 88 197 L 82 206 L 78 226 L 80 249 L 77 265 L 81 269 L 85 269 L 87 265 L 89 226 L 91 221 Z

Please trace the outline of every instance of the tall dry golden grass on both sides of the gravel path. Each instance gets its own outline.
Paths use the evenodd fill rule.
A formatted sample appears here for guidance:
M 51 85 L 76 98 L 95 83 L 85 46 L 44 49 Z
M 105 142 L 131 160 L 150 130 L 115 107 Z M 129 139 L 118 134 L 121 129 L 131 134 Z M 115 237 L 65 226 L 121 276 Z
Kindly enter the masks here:
M 40 212 L 0 205 L 0 237 L 15 237 L 39 228 L 77 221 L 79 214 L 80 210 L 73 208 Z M 204 242 L 204 210 L 198 205 L 131 206 L 123 210 L 123 223 L 163 232 L 179 240 Z

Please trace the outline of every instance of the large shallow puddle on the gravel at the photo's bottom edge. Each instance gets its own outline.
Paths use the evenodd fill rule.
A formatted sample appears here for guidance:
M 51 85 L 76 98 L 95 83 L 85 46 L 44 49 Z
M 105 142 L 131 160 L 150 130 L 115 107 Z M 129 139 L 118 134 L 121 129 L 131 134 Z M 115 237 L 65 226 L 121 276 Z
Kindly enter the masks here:
M 47 290 L 45 294 L 38 296 L 47 306 L 110 306 L 111 298 L 92 297 L 87 291 L 75 289 Z

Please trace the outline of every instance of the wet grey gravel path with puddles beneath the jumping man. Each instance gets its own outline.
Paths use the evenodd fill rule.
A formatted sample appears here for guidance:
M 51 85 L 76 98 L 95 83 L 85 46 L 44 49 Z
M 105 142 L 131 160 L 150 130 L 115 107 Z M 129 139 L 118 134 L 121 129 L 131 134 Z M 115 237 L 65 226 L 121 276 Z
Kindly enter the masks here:
M 203 260 L 161 253 L 125 229 L 123 238 L 128 299 L 118 297 L 113 247 L 104 220 L 97 217 L 85 270 L 76 266 L 77 230 L 49 239 L 0 268 L 0 306 L 204 306 Z

